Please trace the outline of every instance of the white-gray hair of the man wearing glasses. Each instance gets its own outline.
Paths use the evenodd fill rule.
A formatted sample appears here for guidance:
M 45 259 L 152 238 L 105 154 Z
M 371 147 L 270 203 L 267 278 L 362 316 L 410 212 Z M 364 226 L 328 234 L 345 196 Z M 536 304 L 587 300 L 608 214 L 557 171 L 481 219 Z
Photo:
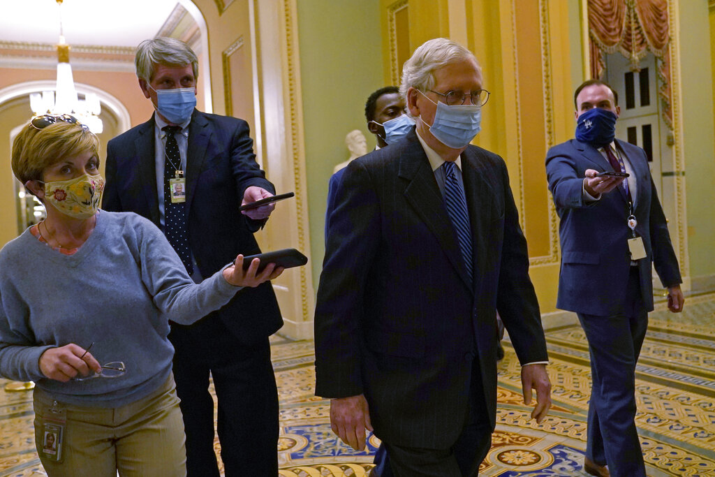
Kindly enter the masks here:
M 481 69 L 474 54 L 456 41 L 435 38 L 418 46 L 418 49 L 415 49 L 410 59 L 403 65 L 400 95 L 405 99 L 405 104 L 408 104 L 407 92 L 410 87 L 420 91 L 432 89 L 435 87 L 434 72 L 436 69 L 465 59 L 473 59 L 477 67 Z M 409 108 L 407 111 L 409 115 Z

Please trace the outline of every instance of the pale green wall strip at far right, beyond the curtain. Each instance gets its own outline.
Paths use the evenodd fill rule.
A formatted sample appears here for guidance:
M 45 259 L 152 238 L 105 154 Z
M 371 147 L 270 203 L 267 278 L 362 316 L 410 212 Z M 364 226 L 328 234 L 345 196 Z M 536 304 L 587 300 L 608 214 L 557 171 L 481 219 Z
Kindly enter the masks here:
M 688 217 L 689 275 L 697 284 L 715 275 L 715 140 L 708 5 L 678 0 L 682 138 Z M 715 283 L 715 282 L 714 282 Z

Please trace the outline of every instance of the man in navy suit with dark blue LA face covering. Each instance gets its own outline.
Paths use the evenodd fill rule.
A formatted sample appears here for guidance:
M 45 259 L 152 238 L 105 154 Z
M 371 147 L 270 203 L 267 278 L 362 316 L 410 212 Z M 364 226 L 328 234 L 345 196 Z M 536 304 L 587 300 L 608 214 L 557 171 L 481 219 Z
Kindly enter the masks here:
M 645 477 L 635 371 L 653 310 L 651 264 L 674 313 L 684 304 L 681 276 L 646 152 L 615 139 L 615 92 L 588 80 L 574 103 L 576 139 L 549 149 L 546 173 L 561 218 L 556 306 L 576 312 L 591 352 L 584 468 L 594 476 Z

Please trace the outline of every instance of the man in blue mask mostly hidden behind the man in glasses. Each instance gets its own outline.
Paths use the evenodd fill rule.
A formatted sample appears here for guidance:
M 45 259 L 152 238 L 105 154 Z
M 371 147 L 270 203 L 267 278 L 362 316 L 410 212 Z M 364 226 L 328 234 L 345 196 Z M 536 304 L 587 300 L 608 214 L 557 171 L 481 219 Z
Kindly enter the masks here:
M 370 94 L 368 101 L 365 102 L 365 119 L 368 121 L 368 131 L 375 134 L 377 141 L 375 149 L 398 142 L 415 125 L 413 119 L 405 114 L 405 100 L 400 96 L 400 89 L 395 86 L 386 86 Z M 330 226 L 330 214 L 335 209 L 335 194 L 343 172 L 345 172 L 344 167 L 332 174 L 327 185 L 326 237 Z

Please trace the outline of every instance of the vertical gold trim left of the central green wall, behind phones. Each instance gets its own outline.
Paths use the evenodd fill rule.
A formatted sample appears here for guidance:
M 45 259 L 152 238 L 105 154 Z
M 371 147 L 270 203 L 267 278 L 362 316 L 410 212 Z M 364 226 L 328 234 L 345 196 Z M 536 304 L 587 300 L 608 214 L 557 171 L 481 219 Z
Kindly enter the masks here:
M 305 147 L 303 147 L 302 102 L 300 101 L 300 59 L 297 46 L 297 6 L 295 0 L 283 0 L 283 20 L 285 26 L 285 47 L 288 80 L 288 114 L 290 124 L 290 147 L 293 161 L 293 187 L 295 188 L 295 210 L 297 215 L 298 247 L 300 250 L 310 250 L 306 240 L 307 227 L 307 195 L 305 187 Z M 309 267 L 300 269 L 300 304 L 304 320 L 311 320 L 310 303 L 312 295 L 308 296 Z M 310 290 L 312 294 L 312 290 Z

